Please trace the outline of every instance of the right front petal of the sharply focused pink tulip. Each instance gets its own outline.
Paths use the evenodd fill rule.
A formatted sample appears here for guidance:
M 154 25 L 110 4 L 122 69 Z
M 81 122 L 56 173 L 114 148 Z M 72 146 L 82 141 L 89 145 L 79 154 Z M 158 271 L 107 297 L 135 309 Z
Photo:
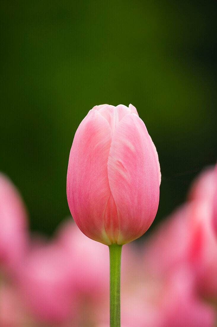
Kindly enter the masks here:
M 158 209 L 159 175 L 152 141 L 136 114 L 117 126 L 108 159 L 108 178 L 119 218 L 117 243 L 140 237 Z

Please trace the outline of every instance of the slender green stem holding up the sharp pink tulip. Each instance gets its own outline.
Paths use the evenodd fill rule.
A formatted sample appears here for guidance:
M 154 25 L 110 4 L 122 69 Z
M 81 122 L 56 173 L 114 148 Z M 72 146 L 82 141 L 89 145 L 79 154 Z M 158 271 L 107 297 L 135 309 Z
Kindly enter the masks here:
M 110 327 L 120 327 L 120 261 L 122 245 L 109 245 Z

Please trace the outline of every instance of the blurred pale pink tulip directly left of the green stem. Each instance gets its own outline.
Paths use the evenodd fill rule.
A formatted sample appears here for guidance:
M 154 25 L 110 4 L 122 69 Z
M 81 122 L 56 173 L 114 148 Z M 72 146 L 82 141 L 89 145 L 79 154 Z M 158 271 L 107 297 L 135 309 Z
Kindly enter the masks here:
M 68 255 L 72 288 L 77 294 L 92 301 L 104 296 L 109 291 L 108 249 L 87 238 L 72 219 L 61 225 L 56 241 Z

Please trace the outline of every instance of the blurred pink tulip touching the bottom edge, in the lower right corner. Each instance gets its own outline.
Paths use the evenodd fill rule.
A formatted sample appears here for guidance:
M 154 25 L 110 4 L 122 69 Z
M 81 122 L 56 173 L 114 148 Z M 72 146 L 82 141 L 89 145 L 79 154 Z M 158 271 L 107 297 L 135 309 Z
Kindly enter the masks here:
M 215 310 L 197 295 L 194 275 L 179 267 L 165 280 L 161 298 L 162 327 L 214 327 Z

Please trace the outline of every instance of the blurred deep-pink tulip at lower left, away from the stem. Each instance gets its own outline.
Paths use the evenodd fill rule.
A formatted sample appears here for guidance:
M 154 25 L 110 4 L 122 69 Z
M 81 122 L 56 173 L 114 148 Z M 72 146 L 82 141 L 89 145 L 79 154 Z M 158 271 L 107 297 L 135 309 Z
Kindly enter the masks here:
M 75 316 L 69 257 L 50 243 L 33 248 L 22 263 L 20 290 L 36 321 L 61 324 Z

